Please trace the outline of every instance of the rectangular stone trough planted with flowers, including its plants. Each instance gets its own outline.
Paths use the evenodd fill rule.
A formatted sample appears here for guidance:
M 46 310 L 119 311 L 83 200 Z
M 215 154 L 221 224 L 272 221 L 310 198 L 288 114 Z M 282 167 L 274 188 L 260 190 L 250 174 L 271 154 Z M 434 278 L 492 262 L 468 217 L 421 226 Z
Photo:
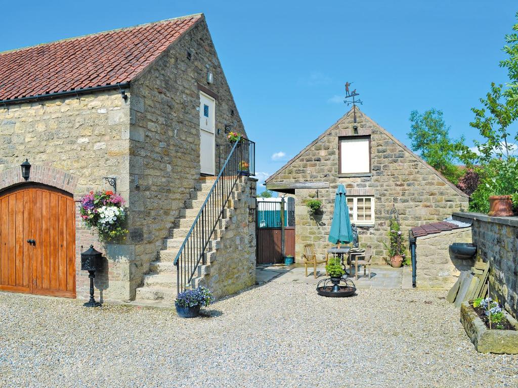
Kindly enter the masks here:
M 461 322 L 478 352 L 518 354 L 518 321 L 491 297 L 463 302 Z

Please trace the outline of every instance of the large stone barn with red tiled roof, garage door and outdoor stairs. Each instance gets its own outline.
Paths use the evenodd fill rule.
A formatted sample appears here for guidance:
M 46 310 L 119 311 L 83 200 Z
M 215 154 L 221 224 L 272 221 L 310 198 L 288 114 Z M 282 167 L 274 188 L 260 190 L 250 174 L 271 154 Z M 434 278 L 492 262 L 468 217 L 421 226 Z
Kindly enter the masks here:
M 246 135 L 203 14 L 0 53 L 0 290 L 88 297 L 93 244 L 102 300 L 172 302 L 231 127 Z M 102 245 L 78 204 L 106 178 L 129 233 Z M 216 296 L 255 282 L 255 180 L 237 179 L 192 280 Z

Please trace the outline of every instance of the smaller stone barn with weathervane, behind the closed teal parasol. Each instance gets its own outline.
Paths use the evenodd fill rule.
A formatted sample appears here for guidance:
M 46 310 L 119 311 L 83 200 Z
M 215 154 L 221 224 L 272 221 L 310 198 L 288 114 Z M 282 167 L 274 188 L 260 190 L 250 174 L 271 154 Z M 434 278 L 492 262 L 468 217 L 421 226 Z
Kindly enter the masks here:
M 468 208 L 465 193 L 355 107 L 266 180 L 267 189 L 295 197 L 296 261 L 305 244 L 314 244 L 320 256 L 332 246 L 327 237 L 340 183 L 360 245 L 372 247 L 376 263 L 386 258 L 393 206 L 407 241 L 410 228 Z M 313 217 L 305 205 L 310 199 L 322 202 Z

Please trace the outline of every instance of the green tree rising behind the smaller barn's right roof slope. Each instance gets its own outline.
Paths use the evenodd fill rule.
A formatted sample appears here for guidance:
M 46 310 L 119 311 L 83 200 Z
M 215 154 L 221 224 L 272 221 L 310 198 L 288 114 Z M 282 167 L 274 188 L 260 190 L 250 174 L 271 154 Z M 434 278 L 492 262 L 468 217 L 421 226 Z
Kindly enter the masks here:
M 458 140 L 450 138 L 450 127 L 444 123 L 442 111 L 434 108 L 423 114 L 414 110 L 409 120 L 412 124 L 407 136 L 412 142 L 412 151 L 419 152 L 431 167 L 457 184 L 463 174 L 457 166 L 458 154 L 467 148 L 464 137 Z

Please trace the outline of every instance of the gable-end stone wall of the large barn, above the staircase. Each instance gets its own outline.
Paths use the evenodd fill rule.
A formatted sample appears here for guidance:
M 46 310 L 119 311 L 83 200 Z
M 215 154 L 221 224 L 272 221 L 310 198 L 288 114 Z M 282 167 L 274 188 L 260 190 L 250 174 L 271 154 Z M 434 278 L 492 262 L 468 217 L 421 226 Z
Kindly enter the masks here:
M 213 73 L 210 85 L 208 71 Z M 205 20 L 184 33 L 131 83 L 132 298 L 199 179 L 198 84 L 218 96 L 216 144 L 228 143 L 225 123 L 234 123 L 235 130 L 245 133 Z

